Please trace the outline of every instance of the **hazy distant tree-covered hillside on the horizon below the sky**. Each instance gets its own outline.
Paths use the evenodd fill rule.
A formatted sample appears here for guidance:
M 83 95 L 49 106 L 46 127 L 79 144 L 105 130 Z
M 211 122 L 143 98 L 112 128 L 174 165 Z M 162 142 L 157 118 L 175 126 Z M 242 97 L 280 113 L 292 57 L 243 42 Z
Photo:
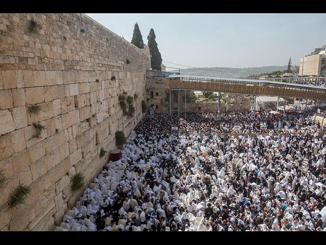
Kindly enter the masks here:
M 202 68 L 187 68 L 180 69 L 181 75 L 200 75 L 212 77 L 229 77 L 239 78 L 248 77 L 251 74 L 261 74 L 271 72 L 274 70 L 286 70 L 284 66 L 262 66 L 262 67 L 248 67 L 248 68 L 231 68 L 231 67 L 202 67 Z M 179 70 L 169 70 L 171 72 L 179 72 Z

